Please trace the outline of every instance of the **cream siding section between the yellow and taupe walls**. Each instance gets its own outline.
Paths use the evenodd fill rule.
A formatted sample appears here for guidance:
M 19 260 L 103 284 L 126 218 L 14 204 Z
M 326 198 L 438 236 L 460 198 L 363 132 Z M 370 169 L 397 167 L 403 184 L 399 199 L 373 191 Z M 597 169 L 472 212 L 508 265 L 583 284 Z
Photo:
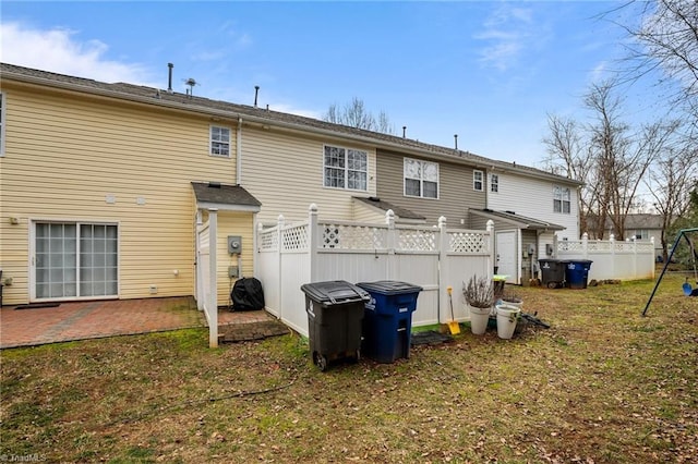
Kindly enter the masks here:
M 324 145 L 368 152 L 368 192 L 323 186 Z M 279 215 L 287 222 L 306 220 L 312 203 L 317 205 L 320 218 L 350 220 L 351 197 L 375 195 L 374 179 L 375 150 L 370 147 L 243 123 L 241 183 L 262 202 L 258 220 L 264 224 L 276 224 Z

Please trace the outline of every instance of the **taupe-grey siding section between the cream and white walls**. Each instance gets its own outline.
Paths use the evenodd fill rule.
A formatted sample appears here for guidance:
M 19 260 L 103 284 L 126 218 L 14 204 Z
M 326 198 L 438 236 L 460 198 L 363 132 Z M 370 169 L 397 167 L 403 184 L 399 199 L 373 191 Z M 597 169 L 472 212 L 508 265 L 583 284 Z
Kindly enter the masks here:
M 472 190 L 472 169 L 444 161 L 438 163 L 438 199 L 405 196 L 404 159 L 422 159 L 396 152 L 377 152 L 377 196 L 396 206 L 407 208 L 426 218 L 428 224 L 438 223 L 445 216 L 448 227 L 469 228 L 468 208 L 484 208 L 484 192 Z M 462 224 L 461 224 L 462 220 Z

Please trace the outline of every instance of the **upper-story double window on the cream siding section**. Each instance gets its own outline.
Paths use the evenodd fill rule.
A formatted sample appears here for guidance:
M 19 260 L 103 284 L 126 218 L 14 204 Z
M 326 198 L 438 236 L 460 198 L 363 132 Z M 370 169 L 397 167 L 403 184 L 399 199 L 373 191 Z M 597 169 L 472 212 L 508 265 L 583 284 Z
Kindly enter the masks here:
M 366 191 L 369 188 L 369 154 L 353 148 L 325 145 L 323 161 L 326 187 Z

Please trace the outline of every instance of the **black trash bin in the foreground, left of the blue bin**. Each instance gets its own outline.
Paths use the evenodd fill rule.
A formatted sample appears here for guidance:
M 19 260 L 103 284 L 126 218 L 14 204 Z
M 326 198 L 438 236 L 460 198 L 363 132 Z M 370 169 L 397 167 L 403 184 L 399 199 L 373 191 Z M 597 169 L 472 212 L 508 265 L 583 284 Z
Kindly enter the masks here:
M 336 359 L 358 361 L 363 306 L 371 295 L 344 280 L 305 283 L 310 354 L 320 370 Z

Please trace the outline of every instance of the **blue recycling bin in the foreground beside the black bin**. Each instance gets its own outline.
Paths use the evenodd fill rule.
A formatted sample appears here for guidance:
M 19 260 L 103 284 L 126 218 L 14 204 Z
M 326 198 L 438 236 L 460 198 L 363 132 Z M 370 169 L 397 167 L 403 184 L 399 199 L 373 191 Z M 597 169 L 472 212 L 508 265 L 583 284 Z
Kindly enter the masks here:
M 360 282 L 371 300 L 364 305 L 361 353 L 378 363 L 410 356 L 412 313 L 422 288 L 407 282 Z

